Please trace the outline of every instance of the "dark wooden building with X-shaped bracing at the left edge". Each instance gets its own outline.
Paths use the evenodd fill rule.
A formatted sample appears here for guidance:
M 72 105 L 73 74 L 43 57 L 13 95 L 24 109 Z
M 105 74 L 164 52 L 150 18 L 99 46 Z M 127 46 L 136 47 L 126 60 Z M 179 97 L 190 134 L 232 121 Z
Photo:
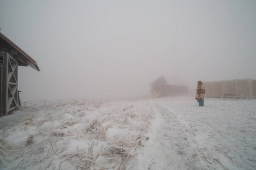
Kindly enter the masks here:
M 20 105 L 18 66 L 39 70 L 36 61 L 0 32 L 0 116 L 7 115 Z

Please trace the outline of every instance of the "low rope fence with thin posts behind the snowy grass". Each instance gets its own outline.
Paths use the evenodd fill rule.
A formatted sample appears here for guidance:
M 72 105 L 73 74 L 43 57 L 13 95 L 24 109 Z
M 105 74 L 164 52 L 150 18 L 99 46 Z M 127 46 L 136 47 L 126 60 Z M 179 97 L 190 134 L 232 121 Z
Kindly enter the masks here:
M 122 98 L 101 98 L 101 99 L 59 99 L 59 100 L 41 100 L 41 101 L 24 101 L 21 104 L 23 108 L 27 107 L 47 107 L 49 105 L 61 105 L 61 104 L 74 104 L 74 103 L 88 103 L 88 104 L 100 104 L 111 103 L 114 101 L 131 101 L 135 100 L 135 97 L 122 97 Z

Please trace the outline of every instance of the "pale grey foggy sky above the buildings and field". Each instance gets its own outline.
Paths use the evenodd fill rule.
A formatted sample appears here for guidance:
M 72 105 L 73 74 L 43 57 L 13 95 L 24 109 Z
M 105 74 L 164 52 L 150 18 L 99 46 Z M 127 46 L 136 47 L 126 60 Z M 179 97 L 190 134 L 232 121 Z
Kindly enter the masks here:
M 0 0 L 1 33 L 38 63 L 23 101 L 150 94 L 161 75 L 256 79 L 256 1 Z M 193 87 L 195 86 L 195 87 Z

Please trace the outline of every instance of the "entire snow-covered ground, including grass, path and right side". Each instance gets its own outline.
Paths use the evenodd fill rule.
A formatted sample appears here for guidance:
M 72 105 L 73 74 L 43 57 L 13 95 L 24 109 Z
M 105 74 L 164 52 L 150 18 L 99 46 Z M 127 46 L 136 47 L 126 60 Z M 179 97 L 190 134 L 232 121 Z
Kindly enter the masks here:
M 255 99 L 75 103 L 10 119 L 0 169 L 256 169 Z

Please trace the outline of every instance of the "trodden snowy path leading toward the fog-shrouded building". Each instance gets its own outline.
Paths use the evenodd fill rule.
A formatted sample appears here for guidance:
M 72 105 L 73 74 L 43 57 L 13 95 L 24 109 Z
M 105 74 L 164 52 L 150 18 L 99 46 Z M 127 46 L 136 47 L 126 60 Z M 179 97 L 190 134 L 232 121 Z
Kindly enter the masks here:
M 138 169 L 201 169 L 199 160 L 193 155 L 193 148 L 176 115 L 162 105 L 151 102 L 156 118 L 153 131 Z M 145 155 L 150 155 L 150 159 Z M 148 157 L 148 156 L 147 156 Z M 143 160 L 147 159 L 147 161 Z M 143 163 L 147 163 L 143 164 Z

